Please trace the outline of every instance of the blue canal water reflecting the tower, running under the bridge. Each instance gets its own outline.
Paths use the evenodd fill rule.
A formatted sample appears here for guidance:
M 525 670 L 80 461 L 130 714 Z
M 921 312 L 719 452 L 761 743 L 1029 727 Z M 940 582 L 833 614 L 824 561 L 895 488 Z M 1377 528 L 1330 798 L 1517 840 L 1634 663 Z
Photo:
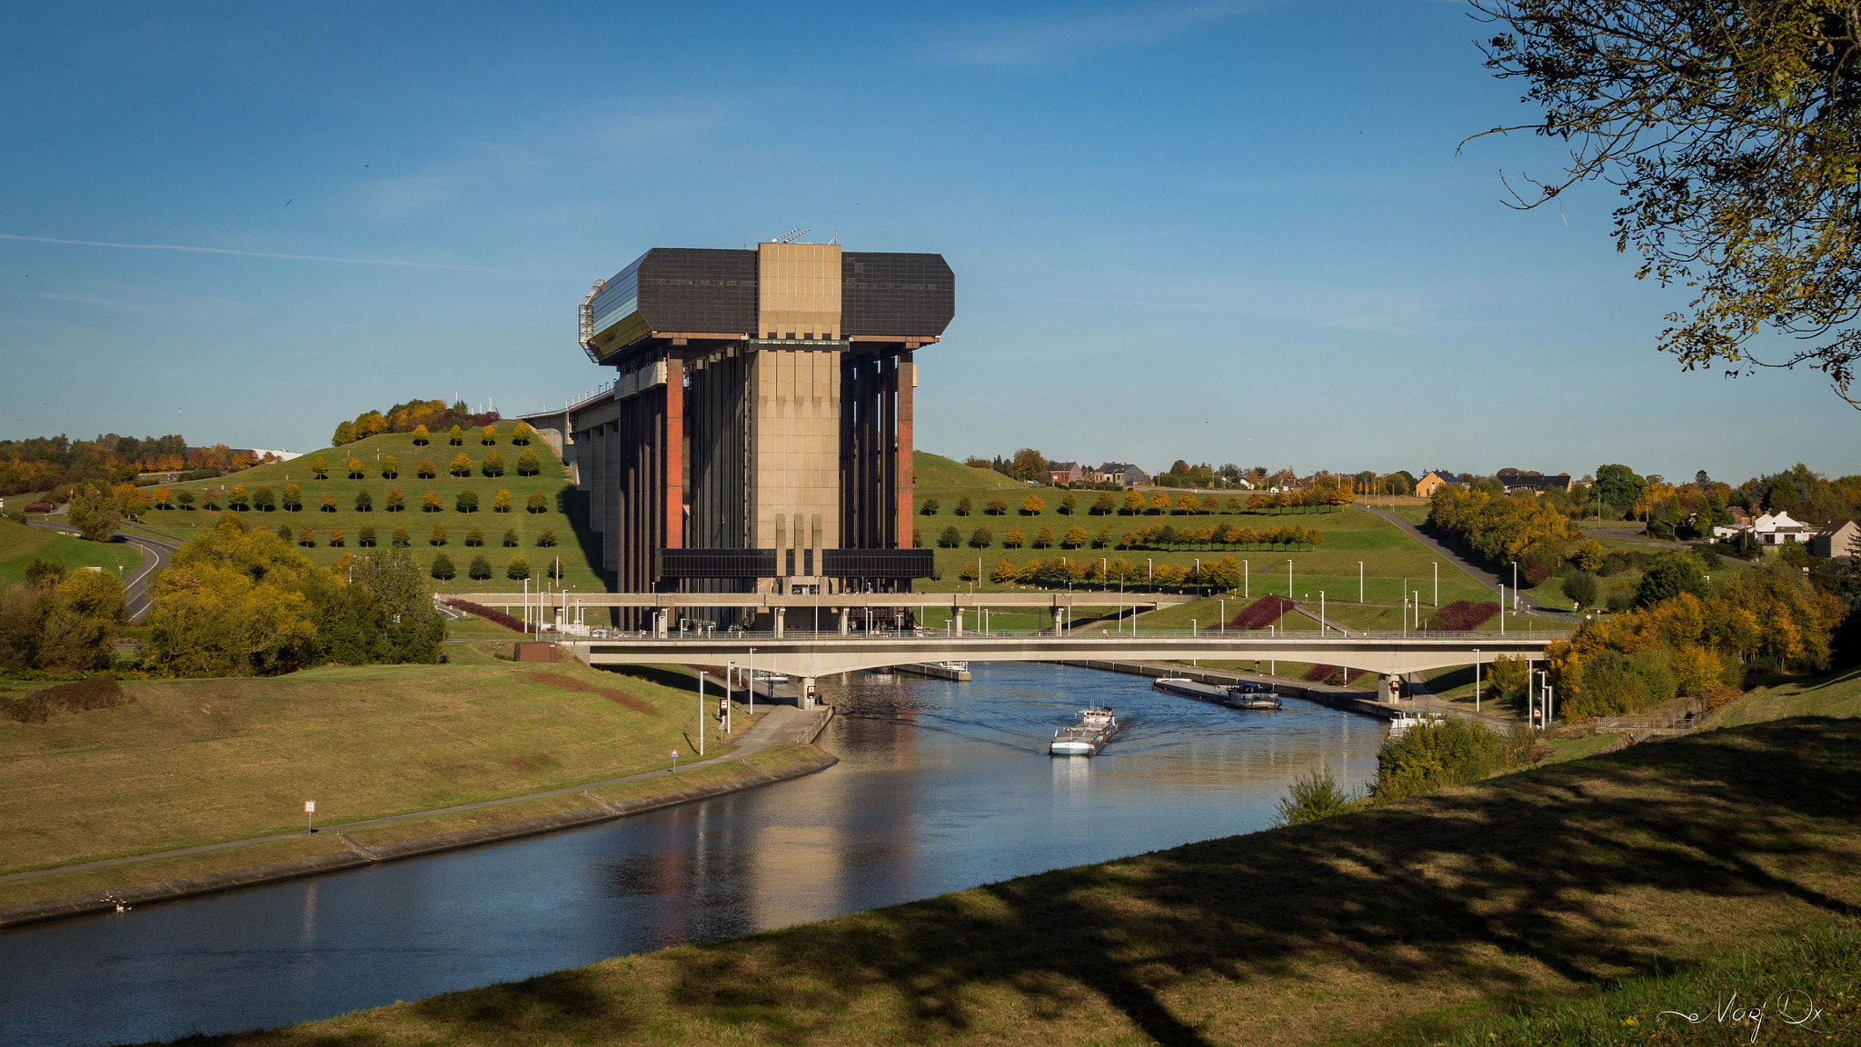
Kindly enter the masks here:
M 1148 680 L 977 665 L 823 680 L 839 766 L 605 825 L 0 931 L 0 1045 L 328 1017 L 1264 829 L 1290 779 L 1375 773 L 1385 725 L 1234 712 Z M 1094 758 L 1046 740 L 1104 702 Z

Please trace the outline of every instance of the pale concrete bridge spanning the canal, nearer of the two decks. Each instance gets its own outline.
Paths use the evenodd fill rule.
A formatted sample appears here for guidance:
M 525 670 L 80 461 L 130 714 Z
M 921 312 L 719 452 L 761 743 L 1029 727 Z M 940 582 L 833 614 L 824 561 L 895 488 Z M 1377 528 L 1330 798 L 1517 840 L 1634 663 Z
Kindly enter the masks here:
M 912 661 L 1308 661 L 1370 673 L 1420 673 L 1485 663 L 1496 656 L 1541 659 L 1567 633 L 1305 633 L 1150 632 L 1143 635 L 1072 633 L 718 633 L 618 639 L 564 639 L 590 665 L 754 665 L 798 678 L 800 693 L 819 676 Z

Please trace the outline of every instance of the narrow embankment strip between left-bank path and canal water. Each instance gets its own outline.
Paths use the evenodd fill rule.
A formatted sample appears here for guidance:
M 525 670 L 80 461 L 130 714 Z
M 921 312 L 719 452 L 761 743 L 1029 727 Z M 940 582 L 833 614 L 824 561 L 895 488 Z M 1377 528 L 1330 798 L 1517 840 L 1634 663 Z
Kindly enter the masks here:
M 84 868 L 50 868 L 0 883 L 0 928 L 194 898 L 305 876 L 575 829 L 789 781 L 832 768 L 813 741 L 832 708 L 774 706 L 735 749 L 683 769 L 648 771 L 462 805 L 439 812 L 331 825 L 246 846 L 188 848 Z

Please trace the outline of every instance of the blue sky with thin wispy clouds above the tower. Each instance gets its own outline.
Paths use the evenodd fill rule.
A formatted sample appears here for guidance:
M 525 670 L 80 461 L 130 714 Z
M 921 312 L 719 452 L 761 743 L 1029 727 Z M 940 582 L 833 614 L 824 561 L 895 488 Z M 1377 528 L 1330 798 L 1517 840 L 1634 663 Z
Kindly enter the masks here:
M 1455 153 L 1528 117 L 1463 4 L 517 7 L 15 9 L 0 436 L 536 410 L 603 378 L 596 278 L 811 227 L 957 270 L 945 455 L 1861 471 L 1814 374 L 1654 352 L 1684 294 L 1632 279 L 1608 186 L 1509 211 L 1556 149 Z

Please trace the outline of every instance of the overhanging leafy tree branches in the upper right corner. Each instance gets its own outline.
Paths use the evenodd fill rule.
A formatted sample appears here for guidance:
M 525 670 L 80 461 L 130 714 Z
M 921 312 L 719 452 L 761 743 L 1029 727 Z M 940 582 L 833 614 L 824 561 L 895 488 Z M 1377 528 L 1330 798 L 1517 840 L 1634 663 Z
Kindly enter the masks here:
M 1569 166 L 1515 190 L 1619 186 L 1615 246 L 1695 296 L 1660 348 L 1692 371 L 1809 365 L 1850 395 L 1861 360 L 1861 4 L 1831 0 L 1470 0 L 1504 32 L 1481 50 L 1526 82 Z M 1474 138 L 1479 138 L 1478 134 Z M 1761 360 L 1757 339 L 1794 337 Z

